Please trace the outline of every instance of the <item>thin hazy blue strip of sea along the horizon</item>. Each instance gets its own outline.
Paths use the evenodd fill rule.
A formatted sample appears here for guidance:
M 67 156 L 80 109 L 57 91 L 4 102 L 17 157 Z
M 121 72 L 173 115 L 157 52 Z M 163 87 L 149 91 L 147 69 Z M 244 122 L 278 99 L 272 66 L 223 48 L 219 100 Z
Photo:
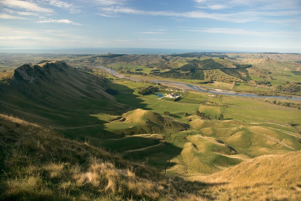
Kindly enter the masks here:
M 184 52 L 223 52 L 236 53 L 239 51 L 224 50 L 202 50 L 202 49 L 151 49 L 151 48 L 1 48 L 0 52 L 8 53 L 32 53 L 32 54 L 179 54 Z M 240 52 L 240 53 L 258 53 L 258 52 Z

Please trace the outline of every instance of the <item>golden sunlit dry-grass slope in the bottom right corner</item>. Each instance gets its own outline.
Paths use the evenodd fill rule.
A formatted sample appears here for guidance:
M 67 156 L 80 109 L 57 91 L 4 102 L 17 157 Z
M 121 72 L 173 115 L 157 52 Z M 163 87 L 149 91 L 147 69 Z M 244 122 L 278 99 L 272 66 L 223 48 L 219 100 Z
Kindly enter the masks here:
M 204 192 L 219 200 L 301 200 L 300 157 L 300 151 L 264 155 L 200 181 L 209 181 Z

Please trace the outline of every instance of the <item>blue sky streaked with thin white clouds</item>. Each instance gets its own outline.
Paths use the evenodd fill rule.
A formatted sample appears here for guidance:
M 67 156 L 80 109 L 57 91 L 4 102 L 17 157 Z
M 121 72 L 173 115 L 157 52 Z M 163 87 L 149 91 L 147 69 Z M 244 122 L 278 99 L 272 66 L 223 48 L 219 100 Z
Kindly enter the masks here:
M 301 0 L 0 0 L 10 48 L 301 53 Z

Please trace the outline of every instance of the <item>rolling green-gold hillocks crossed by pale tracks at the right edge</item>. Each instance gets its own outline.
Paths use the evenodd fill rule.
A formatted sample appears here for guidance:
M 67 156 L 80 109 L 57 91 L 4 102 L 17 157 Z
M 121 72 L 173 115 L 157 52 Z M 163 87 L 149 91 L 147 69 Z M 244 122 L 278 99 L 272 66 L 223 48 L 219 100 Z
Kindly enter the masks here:
M 235 120 L 210 122 L 197 117 L 190 125 L 202 135 L 216 138 L 249 157 L 301 149 L 301 134 L 293 127 Z

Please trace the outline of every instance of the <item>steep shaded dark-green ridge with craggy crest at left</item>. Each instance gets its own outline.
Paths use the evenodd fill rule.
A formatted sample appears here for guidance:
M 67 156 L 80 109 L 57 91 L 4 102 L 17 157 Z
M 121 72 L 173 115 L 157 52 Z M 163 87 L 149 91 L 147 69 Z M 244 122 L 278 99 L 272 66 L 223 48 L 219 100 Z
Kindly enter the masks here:
M 0 111 L 45 126 L 95 124 L 97 119 L 83 117 L 126 108 L 104 92 L 103 79 L 62 61 L 24 64 L 0 79 Z

